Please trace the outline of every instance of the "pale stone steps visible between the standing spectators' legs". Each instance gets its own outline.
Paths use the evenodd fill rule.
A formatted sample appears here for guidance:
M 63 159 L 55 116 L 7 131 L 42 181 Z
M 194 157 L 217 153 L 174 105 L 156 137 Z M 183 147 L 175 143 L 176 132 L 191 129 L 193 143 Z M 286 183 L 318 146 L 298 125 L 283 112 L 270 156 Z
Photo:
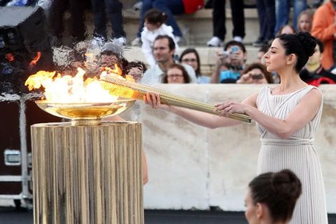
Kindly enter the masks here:
M 223 0 L 225 1 L 225 0 Z M 313 0 L 308 0 L 311 4 Z M 137 35 L 139 27 L 139 11 L 133 10 L 132 5 L 134 0 L 123 1 L 125 10 L 123 10 L 124 29 L 127 34 L 127 41 L 130 43 Z M 230 3 L 226 5 L 226 29 L 227 34 L 225 42 L 232 40 L 232 14 L 230 10 Z M 256 8 L 244 8 L 245 14 L 245 33 L 244 44 L 248 52 L 247 63 L 253 62 L 257 57 L 259 48 L 254 48 L 251 44 L 258 38 L 259 24 L 258 13 Z M 87 34 L 90 34 L 89 38 L 92 38 L 93 25 L 92 25 L 92 13 L 87 11 L 85 14 L 87 24 Z M 293 9 L 290 13 L 290 18 L 293 18 Z M 212 37 L 212 9 L 198 10 L 196 13 L 190 15 L 176 16 L 176 21 L 183 32 L 183 44 L 179 49 L 182 52 L 185 48 L 196 48 L 200 53 L 202 73 L 204 75 L 211 75 L 214 64 L 216 63 L 215 51 L 218 48 L 209 48 L 206 46 L 207 41 Z M 108 25 L 109 34 L 111 34 L 111 25 Z M 139 47 L 129 46 L 125 50 L 125 56 L 127 59 L 142 60 L 144 61 L 144 55 Z

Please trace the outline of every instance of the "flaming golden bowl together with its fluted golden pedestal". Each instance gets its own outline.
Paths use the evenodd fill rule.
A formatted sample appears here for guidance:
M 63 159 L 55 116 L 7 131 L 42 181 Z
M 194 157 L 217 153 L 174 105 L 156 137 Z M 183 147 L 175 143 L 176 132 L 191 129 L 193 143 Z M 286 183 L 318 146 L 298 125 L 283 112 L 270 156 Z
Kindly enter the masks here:
M 141 124 L 101 121 L 134 100 L 84 73 L 40 71 L 26 81 L 45 88 L 41 109 L 71 120 L 31 126 L 34 224 L 143 224 Z

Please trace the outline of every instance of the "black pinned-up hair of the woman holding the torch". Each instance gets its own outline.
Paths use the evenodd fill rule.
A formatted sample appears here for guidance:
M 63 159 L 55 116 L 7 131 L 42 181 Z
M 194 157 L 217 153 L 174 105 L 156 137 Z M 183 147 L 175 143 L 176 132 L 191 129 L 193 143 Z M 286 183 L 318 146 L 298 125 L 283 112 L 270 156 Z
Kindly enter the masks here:
M 286 55 L 295 54 L 297 56 L 295 71 L 299 73 L 309 57 L 314 54 L 316 38 L 308 32 L 281 34 L 277 38 L 279 38 L 281 45 L 285 48 Z

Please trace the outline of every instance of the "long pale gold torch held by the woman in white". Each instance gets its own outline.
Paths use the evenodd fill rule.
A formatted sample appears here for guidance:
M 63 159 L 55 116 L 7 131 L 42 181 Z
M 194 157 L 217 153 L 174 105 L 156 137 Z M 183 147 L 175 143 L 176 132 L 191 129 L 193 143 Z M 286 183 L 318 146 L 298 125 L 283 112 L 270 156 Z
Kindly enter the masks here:
M 172 94 L 171 92 L 160 90 L 158 88 L 151 87 L 148 85 L 134 83 L 128 80 L 120 79 L 120 78 L 115 78 L 114 76 L 110 74 L 106 74 L 106 76 L 101 77 L 101 79 L 107 82 L 105 86 L 107 89 L 109 89 L 109 85 L 118 85 L 124 89 L 120 91 L 121 93 L 127 92 L 125 91 L 125 89 L 129 89 L 133 91 L 134 92 L 134 94 L 132 95 L 133 99 L 144 100 L 144 95 L 146 95 L 147 92 L 155 92 L 156 94 L 160 94 L 160 99 L 161 99 L 162 104 L 167 104 L 170 106 L 179 106 L 179 107 L 183 107 L 186 109 L 193 109 L 196 111 L 212 113 L 215 115 L 219 115 L 221 113 L 221 111 L 214 111 L 215 107 L 210 104 L 197 102 L 193 99 L 181 97 L 177 94 Z M 125 97 L 125 96 L 120 94 L 120 97 Z M 242 114 L 242 113 L 232 113 L 229 116 L 229 118 L 240 120 L 245 123 L 251 123 L 251 120 L 252 120 L 250 116 L 247 116 L 246 114 Z

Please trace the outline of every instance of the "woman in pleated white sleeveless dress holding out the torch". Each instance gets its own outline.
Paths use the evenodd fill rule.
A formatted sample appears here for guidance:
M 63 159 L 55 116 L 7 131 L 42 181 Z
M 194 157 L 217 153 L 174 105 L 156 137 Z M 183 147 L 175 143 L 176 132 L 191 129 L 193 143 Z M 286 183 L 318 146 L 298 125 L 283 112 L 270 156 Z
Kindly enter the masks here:
M 153 108 L 172 111 L 193 123 L 216 128 L 237 125 L 228 117 L 245 113 L 256 122 L 261 135 L 258 174 L 292 170 L 302 181 L 302 197 L 291 223 L 328 223 L 320 162 L 314 148 L 314 133 L 321 119 L 323 97 L 314 86 L 304 83 L 299 71 L 314 53 L 316 39 L 308 33 L 282 34 L 265 54 L 267 71 L 276 71 L 281 83 L 262 87 L 243 102 L 216 104 L 221 116 L 160 104 L 160 96 L 144 97 Z

